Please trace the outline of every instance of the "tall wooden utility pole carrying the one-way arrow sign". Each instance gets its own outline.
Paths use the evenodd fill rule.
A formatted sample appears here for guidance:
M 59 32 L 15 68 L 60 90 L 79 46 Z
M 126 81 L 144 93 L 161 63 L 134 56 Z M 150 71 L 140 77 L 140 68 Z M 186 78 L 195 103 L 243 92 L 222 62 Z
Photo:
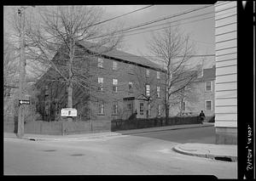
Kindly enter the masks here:
M 26 78 L 26 59 L 24 46 L 24 26 L 25 26 L 25 8 L 20 6 L 18 8 L 18 15 L 20 18 L 20 85 L 19 85 L 19 99 L 24 99 L 24 82 Z M 18 113 L 18 132 L 17 137 L 21 139 L 24 136 L 24 109 L 26 105 L 19 104 Z

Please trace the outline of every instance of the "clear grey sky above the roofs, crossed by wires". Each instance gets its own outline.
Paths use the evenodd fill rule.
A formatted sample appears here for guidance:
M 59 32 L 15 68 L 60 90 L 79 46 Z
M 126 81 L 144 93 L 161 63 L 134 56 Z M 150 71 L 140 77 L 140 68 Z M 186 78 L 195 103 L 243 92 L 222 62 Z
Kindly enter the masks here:
M 108 20 L 115 16 L 129 13 L 131 11 L 137 10 L 139 8 L 147 7 L 148 5 L 106 5 L 101 6 L 104 9 L 103 20 Z M 144 8 L 143 10 L 137 11 L 132 14 L 127 14 L 118 19 L 112 20 L 112 23 L 121 23 L 124 27 L 130 27 L 132 25 L 138 25 L 144 22 L 159 20 L 160 18 L 166 16 L 172 16 L 173 14 L 180 14 L 189 9 L 200 8 L 206 6 L 205 4 L 200 5 L 153 5 L 149 8 Z M 36 8 L 33 8 L 36 10 Z M 9 12 L 9 7 L 4 7 L 4 14 Z M 209 14 L 207 14 L 209 13 Z M 193 17 L 195 15 L 200 15 L 198 17 Z M 186 20 L 181 20 L 186 19 Z M 205 19 L 205 20 L 202 20 Z M 180 20 L 180 21 L 178 21 Z M 201 10 L 195 11 L 193 13 L 184 14 L 177 16 L 172 19 L 168 19 L 172 22 L 172 25 L 179 25 L 182 31 L 189 33 L 192 41 L 195 43 L 195 54 L 214 54 L 215 44 L 214 44 L 214 7 L 213 5 L 209 8 L 203 8 Z M 174 22 L 173 22 L 174 21 Z M 4 21 L 5 22 L 5 21 Z M 151 24 L 159 25 L 145 29 L 143 31 L 134 31 L 129 34 L 139 33 L 136 35 L 128 36 L 125 34 L 124 37 L 124 47 L 123 51 L 136 54 L 139 56 L 152 56 L 148 50 L 148 41 L 152 36 L 152 33 L 160 33 L 162 30 L 151 31 L 154 29 L 160 29 L 166 27 L 166 25 L 160 25 L 166 23 L 166 20 Z M 106 22 L 108 24 L 108 22 Z M 151 26 L 150 25 L 150 26 Z M 149 25 L 148 25 L 149 26 Z M 149 57 L 148 57 L 149 58 Z M 154 57 L 150 57 L 151 59 Z M 195 62 L 201 61 L 201 58 L 196 58 Z M 214 56 L 206 57 L 204 60 L 204 68 L 210 68 L 214 65 Z

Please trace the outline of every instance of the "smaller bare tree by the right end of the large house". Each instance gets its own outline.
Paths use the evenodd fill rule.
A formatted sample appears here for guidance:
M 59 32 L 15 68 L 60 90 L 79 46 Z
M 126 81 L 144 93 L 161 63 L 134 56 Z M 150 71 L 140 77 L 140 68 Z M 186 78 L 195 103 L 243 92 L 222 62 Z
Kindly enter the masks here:
M 157 35 L 153 34 L 148 42 L 150 52 L 158 57 L 158 61 L 166 70 L 166 120 L 169 117 L 170 105 L 177 94 L 184 91 L 196 78 L 196 71 L 188 67 L 189 60 L 194 54 L 193 44 L 190 43 L 189 34 L 182 32 L 178 26 L 169 26 Z

